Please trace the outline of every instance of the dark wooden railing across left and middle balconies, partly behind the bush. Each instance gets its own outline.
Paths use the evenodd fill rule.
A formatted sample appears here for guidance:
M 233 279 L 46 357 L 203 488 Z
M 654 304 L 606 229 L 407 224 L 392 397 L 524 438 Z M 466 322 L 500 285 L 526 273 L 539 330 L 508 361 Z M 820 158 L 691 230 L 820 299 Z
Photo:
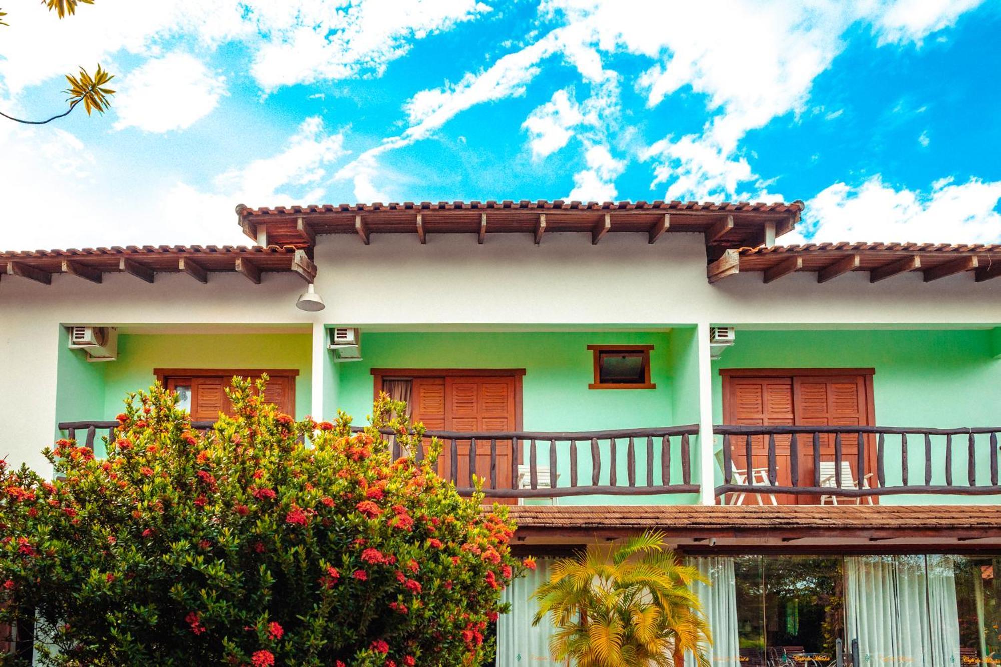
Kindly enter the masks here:
M 117 426 L 65 422 L 58 428 L 67 438 L 82 436 L 77 442 L 93 449 L 98 435 L 110 438 Z M 212 426 L 191 423 L 198 430 Z M 699 427 L 691 425 L 571 433 L 427 431 L 424 437 L 425 442 L 437 438 L 443 443 L 438 474 L 454 482 L 460 494 L 473 492 L 475 475 L 484 480 L 488 498 L 513 499 L 698 493 L 699 486 L 692 483 L 691 443 L 697 435 Z M 402 456 L 399 443 L 390 442 L 393 458 Z M 415 453 L 418 461 L 425 454 L 426 446 Z M 476 463 L 469 466 L 469 461 Z M 584 479 L 589 474 L 590 480 Z

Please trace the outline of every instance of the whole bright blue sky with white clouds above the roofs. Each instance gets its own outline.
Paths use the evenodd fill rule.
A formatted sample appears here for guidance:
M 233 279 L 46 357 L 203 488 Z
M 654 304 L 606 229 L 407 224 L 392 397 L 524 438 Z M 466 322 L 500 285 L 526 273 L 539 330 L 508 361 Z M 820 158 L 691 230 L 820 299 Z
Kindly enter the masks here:
M 160 6 L 162 5 L 162 6 Z M 807 202 L 803 240 L 1001 241 L 1001 2 L 5 0 L 0 247 L 245 242 L 236 203 Z M 40 49 L 39 44 L 45 48 Z

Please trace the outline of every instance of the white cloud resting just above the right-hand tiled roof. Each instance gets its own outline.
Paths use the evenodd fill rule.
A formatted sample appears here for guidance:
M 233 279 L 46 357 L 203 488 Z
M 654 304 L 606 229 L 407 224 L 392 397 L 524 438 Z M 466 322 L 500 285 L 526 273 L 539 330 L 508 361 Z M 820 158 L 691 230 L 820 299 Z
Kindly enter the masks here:
M 1001 181 L 942 178 L 927 192 L 895 188 L 876 175 L 861 186 L 835 183 L 806 202 L 801 228 L 782 242 L 1001 241 Z

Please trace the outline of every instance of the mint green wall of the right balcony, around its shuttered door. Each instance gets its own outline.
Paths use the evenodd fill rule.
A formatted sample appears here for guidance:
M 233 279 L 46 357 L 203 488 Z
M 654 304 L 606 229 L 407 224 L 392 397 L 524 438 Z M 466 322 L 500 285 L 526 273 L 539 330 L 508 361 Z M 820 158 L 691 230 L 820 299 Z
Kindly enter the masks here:
M 722 422 L 719 369 L 874 368 L 876 424 L 899 427 L 989 427 L 1001 425 L 1001 361 L 994 333 L 974 330 L 737 330 L 737 343 L 713 364 L 713 403 Z M 954 482 L 967 479 L 966 439 L 957 438 Z M 978 445 L 978 482 L 989 482 L 989 444 Z M 944 441 L 933 441 L 933 484 L 944 484 Z M 909 441 L 911 483 L 923 483 L 924 441 Z M 899 481 L 900 445 L 887 439 L 888 484 Z M 942 496 L 934 502 L 995 503 L 996 497 Z M 887 497 L 892 503 L 928 504 L 928 497 Z

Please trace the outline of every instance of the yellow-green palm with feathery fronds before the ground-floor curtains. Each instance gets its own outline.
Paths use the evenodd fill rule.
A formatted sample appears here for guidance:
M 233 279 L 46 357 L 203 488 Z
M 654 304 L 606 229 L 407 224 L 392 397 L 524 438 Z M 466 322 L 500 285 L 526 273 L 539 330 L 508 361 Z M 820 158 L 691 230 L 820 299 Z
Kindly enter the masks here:
M 681 667 L 689 651 L 709 667 L 712 634 L 696 581 L 706 579 L 679 562 L 663 533 L 646 532 L 611 552 L 557 561 L 533 596 L 533 625 L 552 614 L 550 652 L 577 667 Z

